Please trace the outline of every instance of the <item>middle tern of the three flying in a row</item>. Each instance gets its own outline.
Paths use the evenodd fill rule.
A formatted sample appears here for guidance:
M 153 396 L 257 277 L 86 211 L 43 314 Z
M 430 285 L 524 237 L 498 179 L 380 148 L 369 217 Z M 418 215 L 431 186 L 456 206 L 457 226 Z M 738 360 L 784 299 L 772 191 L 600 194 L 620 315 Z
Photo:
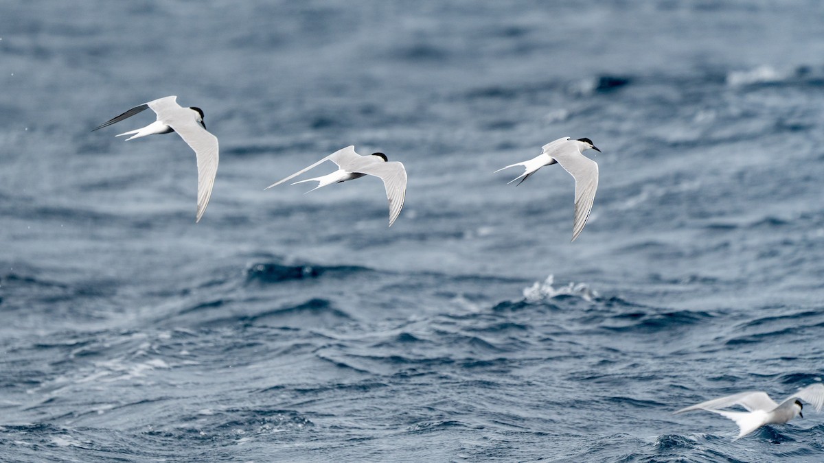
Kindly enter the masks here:
M 406 169 L 404 165 L 398 161 L 388 161 L 386 155 L 382 152 L 373 152 L 369 156 L 361 156 L 355 152 L 354 146 L 348 146 L 333 152 L 327 157 L 317 161 L 308 166 L 302 171 L 295 172 L 283 180 L 269 185 L 265 189 L 270 189 L 273 186 L 282 184 L 287 180 L 292 180 L 301 175 L 303 172 L 321 165 L 324 161 L 332 161 L 338 165 L 338 170 L 331 174 L 321 175 L 313 179 L 301 180 L 293 183 L 316 181 L 317 186 L 309 191 L 314 191 L 322 186 L 332 185 L 333 183 L 340 183 L 346 180 L 359 179 L 363 175 L 374 175 L 383 180 L 383 186 L 386 188 L 386 198 L 389 199 L 389 226 L 395 222 L 400 214 L 400 209 L 404 207 L 404 197 L 406 195 Z M 309 193 L 307 191 L 307 193 Z

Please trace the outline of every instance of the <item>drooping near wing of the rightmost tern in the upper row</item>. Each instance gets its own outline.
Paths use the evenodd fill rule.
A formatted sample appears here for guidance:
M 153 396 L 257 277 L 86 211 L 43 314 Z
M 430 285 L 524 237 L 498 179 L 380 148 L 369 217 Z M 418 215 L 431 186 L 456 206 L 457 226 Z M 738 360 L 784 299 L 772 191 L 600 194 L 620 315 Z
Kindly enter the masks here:
M 553 157 L 575 179 L 575 218 L 572 226 L 572 241 L 587 224 L 592 203 L 595 201 L 595 190 L 598 189 L 598 164 L 592 159 L 583 156 L 573 143 L 564 142 L 550 147 L 553 143 L 544 146 L 544 153 Z M 547 149 L 550 147 L 550 149 Z

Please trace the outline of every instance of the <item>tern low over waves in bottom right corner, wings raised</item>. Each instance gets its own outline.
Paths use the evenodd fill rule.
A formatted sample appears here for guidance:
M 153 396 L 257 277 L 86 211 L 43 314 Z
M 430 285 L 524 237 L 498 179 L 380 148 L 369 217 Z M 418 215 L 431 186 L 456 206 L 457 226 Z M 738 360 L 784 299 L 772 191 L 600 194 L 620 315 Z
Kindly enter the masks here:
M 784 424 L 796 416 L 804 418 L 801 414 L 801 399 L 812 405 L 816 411 L 821 411 L 824 405 L 824 384 L 817 382 L 816 384 L 807 386 L 802 390 L 790 395 L 784 399 L 781 404 L 776 404 L 774 400 L 770 399 L 765 392 L 742 392 L 740 394 L 728 395 L 720 399 L 707 400 L 698 405 L 692 405 L 685 409 L 678 410 L 677 414 L 688 412 L 691 410 L 707 410 L 720 414 L 721 416 L 732 419 L 741 431 L 738 433 L 736 439 L 752 433 L 765 424 Z M 730 410 L 723 410 L 733 405 L 741 405 L 746 412 L 736 412 Z

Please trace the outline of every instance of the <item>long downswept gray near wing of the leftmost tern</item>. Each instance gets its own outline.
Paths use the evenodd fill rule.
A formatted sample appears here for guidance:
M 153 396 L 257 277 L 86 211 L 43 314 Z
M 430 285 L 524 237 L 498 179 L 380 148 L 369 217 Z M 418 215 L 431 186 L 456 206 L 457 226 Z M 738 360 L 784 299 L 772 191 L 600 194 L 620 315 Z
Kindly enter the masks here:
M 166 124 L 175 129 L 198 157 L 198 210 L 195 222 L 200 222 L 212 197 L 214 177 L 218 175 L 218 138 L 208 133 L 194 118 L 166 119 Z

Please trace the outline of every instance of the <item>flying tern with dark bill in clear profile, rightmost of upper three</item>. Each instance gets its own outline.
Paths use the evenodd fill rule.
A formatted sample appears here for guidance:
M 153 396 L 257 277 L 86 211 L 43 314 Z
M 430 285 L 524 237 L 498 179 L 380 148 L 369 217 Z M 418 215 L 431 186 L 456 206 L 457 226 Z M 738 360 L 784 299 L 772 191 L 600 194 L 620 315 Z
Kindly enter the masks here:
M 592 159 L 583 156 L 583 152 L 594 149 L 601 152 L 592 144 L 589 138 L 570 140 L 569 137 L 558 138 L 554 142 L 546 143 L 541 148 L 541 154 L 529 161 L 510 164 L 495 172 L 503 171 L 515 166 L 523 166 L 524 172 L 508 183 L 520 179 L 517 185 L 527 180 L 543 166 L 550 166 L 556 162 L 564 167 L 575 179 L 575 218 L 572 227 L 572 241 L 581 234 L 583 226 L 587 224 L 592 202 L 595 200 L 595 190 L 598 188 L 598 165 Z

